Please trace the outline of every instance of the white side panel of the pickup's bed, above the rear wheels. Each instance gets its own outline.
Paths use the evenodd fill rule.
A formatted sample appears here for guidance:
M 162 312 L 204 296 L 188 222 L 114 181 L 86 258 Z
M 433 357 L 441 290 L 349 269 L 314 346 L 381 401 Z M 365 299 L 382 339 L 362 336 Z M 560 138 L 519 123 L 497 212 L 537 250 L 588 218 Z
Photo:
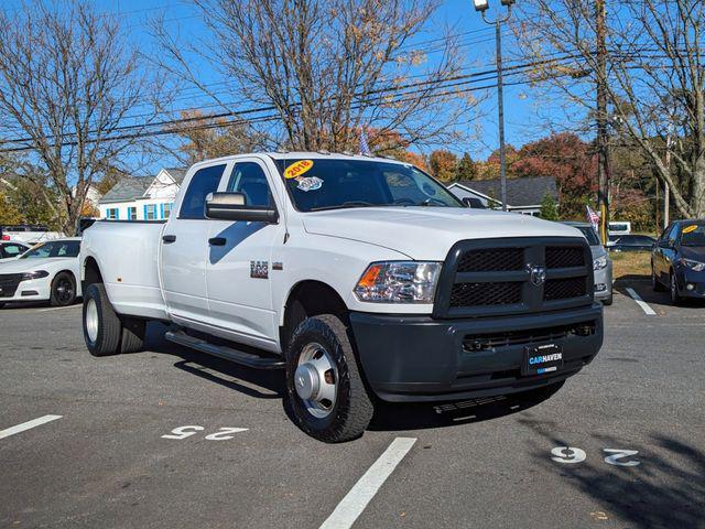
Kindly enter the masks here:
M 98 263 L 116 312 L 166 320 L 159 274 L 163 222 L 99 220 L 86 229 L 80 262 Z

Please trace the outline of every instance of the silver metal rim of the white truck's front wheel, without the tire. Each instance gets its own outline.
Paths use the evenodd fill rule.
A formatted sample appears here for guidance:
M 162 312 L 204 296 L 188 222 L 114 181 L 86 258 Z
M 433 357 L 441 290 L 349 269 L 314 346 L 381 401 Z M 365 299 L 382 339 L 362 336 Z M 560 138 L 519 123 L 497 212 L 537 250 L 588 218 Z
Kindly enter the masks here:
M 318 419 L 330 414 L 337 397 L 338 370 L 321 344 L 306 345 L 294 373 L 294 388 L 308 413 Z

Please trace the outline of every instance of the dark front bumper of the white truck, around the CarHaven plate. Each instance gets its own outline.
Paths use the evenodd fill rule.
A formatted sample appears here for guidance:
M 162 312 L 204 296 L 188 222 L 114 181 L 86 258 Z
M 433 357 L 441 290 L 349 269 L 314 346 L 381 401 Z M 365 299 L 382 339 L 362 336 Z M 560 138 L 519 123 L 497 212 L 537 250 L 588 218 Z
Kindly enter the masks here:
M 379 398 L 392 402 L 486 397 L 546 386 L 575 375 L 603 344 L 599 303 L 464 320 L 356 312 L 350 322 L 369 385 Z M 524 347 L 545 343 L 563 348 L 563 368 L 522 377 Z

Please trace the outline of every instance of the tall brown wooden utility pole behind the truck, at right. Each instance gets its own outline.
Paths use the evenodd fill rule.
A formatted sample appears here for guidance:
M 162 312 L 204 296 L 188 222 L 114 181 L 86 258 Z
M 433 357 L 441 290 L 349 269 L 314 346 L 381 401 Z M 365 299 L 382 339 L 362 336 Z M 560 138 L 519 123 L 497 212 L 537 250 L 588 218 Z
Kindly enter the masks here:
M 609 223 L 609 152 L 607 137 L 607 29 L 605 0 L 595 0 L 597 28 L 597 206 L 599 236 L 607 245 Z

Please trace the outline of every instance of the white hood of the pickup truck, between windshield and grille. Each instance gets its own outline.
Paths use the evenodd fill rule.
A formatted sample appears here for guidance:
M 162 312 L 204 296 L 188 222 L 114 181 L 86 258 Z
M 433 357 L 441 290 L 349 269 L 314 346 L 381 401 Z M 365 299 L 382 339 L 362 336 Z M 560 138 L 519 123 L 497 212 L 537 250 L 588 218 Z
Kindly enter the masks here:
M 530 215 L 462 207 L 359 207 L 303 216 L 310 234 L 359 240 L 411 259 L 442 261 L 464 239 L 583 237 L 577 229 Z

